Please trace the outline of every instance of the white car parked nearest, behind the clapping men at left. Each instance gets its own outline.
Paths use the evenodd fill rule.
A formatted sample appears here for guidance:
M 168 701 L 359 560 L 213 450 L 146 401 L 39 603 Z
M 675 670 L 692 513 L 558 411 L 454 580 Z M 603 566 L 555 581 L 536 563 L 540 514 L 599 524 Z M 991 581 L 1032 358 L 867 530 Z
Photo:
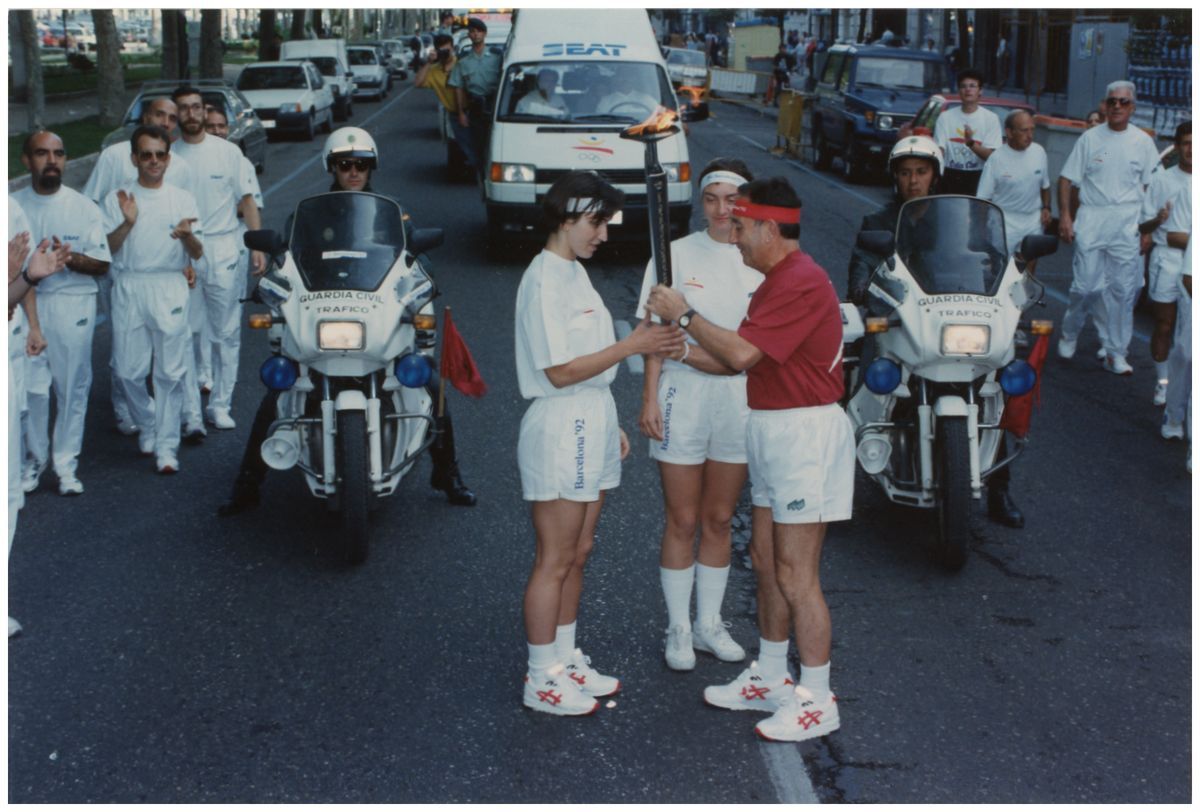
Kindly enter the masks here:
M 334 91 L 312 62 L 252 62 L 238 74 L 238 90 L 254 106 L 263 126 L 312 140 L 334 131 Z

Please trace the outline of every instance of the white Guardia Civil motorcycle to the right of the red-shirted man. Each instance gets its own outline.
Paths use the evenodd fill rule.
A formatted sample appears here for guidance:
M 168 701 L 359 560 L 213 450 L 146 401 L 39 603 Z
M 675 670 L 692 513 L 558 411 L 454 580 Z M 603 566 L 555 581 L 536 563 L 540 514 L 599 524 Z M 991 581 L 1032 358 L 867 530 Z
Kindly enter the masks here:
M 1034 335 L 1052 329 L 1021 317 L 1044 293 L 1025 265 L 1054 253 L 1057 240 L 1026 236 L 1016 257 L 1006 245 L 996 205 L 914 198 L 900 209 L 894 234 L 859 234 L 859 248 L 886 258 L 869 282 L 865 320 L 842 305 L 847 344 L 864 332 L 875 344 L 862 359 L 847 353 L 858 464 L 892 501 L 936 511 L 938 555 L 952 571 L 966 563 L 973 500 L 1025 447 L 1018 439 L 997 458 L 1006 396 L 1037 381 L 1036 369 L 1015 357 L 1018 326 Z

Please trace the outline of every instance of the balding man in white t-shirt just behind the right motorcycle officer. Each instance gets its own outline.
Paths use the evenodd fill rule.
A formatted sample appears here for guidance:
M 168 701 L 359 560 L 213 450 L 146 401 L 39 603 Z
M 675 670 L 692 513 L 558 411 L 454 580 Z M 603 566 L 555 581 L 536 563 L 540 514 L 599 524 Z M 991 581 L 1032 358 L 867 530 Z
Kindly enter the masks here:
M 976 194 L 991 200 L 1004 212 L 1004 237 L 1008 253 L 1016 249 L 1030 234 L 1040 234 L 1050 224 L 1050 172 L 1046 151 L 1033 143 L 1033 116 L 1025 110 L 1013 110 L 1004 119 L 1001 144 L 983 166 Z M 1033 272 L 1033 261 L 1026 270 Z

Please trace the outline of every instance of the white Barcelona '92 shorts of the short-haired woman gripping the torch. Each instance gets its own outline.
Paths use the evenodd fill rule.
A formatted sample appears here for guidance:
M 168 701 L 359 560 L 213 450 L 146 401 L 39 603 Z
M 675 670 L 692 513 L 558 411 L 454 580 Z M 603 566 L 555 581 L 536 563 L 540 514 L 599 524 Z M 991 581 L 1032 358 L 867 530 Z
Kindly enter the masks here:
M 620 428 L 608 389 L 534 398 L 521 419 L 517 465 L 526 501 L 596 501 L 620 485 Z

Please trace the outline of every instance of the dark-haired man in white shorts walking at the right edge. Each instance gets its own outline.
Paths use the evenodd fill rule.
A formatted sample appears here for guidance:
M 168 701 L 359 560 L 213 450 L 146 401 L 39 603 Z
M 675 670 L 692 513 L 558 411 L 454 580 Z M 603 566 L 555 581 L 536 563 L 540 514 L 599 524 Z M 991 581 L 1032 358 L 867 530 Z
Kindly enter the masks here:
M 1150 308 L 1154 314 L 1154 333 L 1150 338 L 1150 354 L 1154 359 L 1154 405 L 1166 402 L 1169 380 L 1168 355 L 1175 330 L 1175 302 L 1180 297 L 1180 266 L 1183 252 L 1166 245 L 1166 221 L 1180 198 L 1192 202 L 1192 122 L 1175 128 L 1175 150 L 1178 166 L 1158 169 L 1150 178 L 1150 187 L 1141 202 L 1141 252 L 1150 253 Z M 1192 230 L 1190 222 L 1187 229 Z

